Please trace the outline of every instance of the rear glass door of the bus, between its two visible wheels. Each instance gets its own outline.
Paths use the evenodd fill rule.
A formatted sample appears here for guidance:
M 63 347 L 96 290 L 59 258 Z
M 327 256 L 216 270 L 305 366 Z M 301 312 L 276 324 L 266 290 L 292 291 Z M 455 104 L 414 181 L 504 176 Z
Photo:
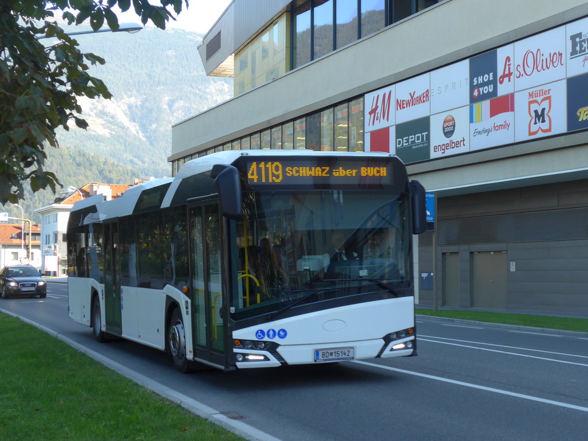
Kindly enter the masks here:
M 121 278 L 119 274 L 118 223 L 104 225 L 104 304 L 106 330 L 122 333 Z

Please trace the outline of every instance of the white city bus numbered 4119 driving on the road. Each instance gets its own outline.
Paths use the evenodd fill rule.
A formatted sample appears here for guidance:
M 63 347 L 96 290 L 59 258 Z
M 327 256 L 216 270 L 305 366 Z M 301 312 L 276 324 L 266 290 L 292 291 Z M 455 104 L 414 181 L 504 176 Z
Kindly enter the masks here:
M 69 316 L 181 372 L 416 355 L 425 225 L 424 189 L 394 155 L 213 153 L 75 203 Z

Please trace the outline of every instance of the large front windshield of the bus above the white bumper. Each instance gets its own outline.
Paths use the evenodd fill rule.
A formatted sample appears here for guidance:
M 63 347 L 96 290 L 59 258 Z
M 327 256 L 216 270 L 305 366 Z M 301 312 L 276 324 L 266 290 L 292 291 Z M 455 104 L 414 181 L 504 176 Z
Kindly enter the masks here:
M 246 192 L 243 213 L 235 319 L 368 291 L 396 296 L 410 283 L 403 193 Z

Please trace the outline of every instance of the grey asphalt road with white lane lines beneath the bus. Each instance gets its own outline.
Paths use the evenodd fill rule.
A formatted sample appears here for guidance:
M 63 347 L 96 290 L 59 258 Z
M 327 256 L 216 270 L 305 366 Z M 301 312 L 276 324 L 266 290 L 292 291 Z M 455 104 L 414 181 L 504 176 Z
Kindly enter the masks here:
M 95 342 L 91 329 L 68 318 L 64 284 L 50 282 L 46 299 L 0 300 L 0 309 L 113 360 L 164 395 L 196 403 L 199 413 L 250 439 L 588 437 L 588 335 L 419 316 L 417 357 L 182 375 L 157 350 Z

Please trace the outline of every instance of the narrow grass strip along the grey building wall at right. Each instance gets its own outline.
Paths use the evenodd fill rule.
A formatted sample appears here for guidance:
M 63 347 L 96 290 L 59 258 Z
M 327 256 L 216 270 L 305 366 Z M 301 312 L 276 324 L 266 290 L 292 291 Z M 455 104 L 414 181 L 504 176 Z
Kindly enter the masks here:
M 506 325 L 532 326 L 533 328 L 588 332 L 588 319 L 552 317 L 544 315 L 511 314 L 505 312 L 461 311 L 453 309 L 415 310 L 417 314 L 451 319 L 475 320 L 476 322 L 505 323 Z

